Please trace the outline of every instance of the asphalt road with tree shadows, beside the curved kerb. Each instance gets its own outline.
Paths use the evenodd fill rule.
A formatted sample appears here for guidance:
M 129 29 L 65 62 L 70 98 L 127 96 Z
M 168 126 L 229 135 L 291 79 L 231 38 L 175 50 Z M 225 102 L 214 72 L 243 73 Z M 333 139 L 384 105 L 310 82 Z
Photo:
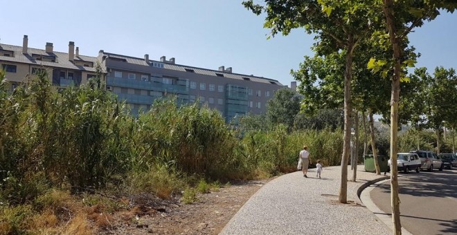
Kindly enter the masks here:
M 391 214 L 390 180 L 370 192 Z M 400 221 L 412 234 L 457 234 L 457 169 L 399 173 Z

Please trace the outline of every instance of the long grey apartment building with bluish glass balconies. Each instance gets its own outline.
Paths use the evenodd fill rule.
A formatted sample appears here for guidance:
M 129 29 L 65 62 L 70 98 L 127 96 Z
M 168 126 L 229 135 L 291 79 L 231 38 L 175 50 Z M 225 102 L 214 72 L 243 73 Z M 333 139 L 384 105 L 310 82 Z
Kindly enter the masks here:
M 178 103 L 206 103 L 229 122 L 235 116 L 265 113 L 267 101 L 284 87 L 274 79 L 233 73 L 231 67 L 197 68 L 165 56 L 153 60 L 147 54 L 138 58 L 100 50 L 98 60 L 107 71 L 107 89 L 132 104 L 133 113 L 175 95 Z

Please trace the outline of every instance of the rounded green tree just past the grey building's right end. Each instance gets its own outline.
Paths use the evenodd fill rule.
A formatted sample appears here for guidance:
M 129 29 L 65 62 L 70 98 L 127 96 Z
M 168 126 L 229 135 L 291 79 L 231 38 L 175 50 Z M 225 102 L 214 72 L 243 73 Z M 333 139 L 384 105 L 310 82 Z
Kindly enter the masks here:
M 267 103 L 267 118 L 271 124 L 285 124 L 288 131 L 294 127 L 294 119 L 300 111 L 300 97 L 289 88 L 281 88 Z

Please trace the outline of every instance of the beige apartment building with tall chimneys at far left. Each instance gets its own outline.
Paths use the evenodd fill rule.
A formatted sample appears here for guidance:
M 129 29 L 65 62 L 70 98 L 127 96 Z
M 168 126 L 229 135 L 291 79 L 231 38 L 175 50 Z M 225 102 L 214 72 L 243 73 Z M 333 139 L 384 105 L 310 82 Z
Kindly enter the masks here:
M 28 36 L 24 35 L 22 46 L 0 44 L 0 65 L 6 71 L 11 91 L 24 82 L 28 75 L 46 69 L 53 86 L 79 86 L 96 75 L 96 57 L 79 54 L 79 48 L 69 42 L 68 53 L 53 50 L 46 42 L 44 49 L 28 48 Z

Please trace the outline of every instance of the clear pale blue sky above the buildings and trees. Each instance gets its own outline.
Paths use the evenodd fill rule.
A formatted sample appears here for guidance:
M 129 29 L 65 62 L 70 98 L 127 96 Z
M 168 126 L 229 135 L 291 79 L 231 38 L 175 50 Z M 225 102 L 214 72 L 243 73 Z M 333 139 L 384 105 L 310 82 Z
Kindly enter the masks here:
M 304 55 L 312 55 L 313 38 L 304 30 L 267 40 L 269 30 L 241 0 L 0 0 L 0 43 L 67 52 L 75 41 L 81 55 L 98 50 L 150 59 L 175 57 L 177 64 L 293 81 Z M 417 66 L 457 68 L 457 14 L 445 14 L 411 35 L 422 53 Z

